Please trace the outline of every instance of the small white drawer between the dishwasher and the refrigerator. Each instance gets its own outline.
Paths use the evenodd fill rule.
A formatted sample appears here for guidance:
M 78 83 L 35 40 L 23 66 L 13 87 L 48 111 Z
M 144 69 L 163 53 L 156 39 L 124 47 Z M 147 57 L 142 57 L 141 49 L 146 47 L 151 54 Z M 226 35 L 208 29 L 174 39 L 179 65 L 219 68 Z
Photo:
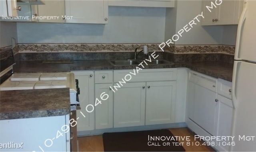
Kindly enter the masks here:
M 231 85 L 232 83 L 223 79 L 218 79 L 217 93 L 228 99 L 231 99 Z

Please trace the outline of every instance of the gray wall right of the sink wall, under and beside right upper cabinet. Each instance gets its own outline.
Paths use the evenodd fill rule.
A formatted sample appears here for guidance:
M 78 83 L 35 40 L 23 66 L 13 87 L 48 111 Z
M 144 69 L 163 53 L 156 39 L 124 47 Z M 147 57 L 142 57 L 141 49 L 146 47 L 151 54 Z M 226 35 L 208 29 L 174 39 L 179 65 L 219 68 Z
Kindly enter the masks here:
M 165 41 L 171 39 L 202 12 L 202 0 L 178 0 L 176 5 L 177 8 L 166 9 Z M 194 25 L 190 31 L 182 33 L 176 45 L 235 45 L 237 25 L 201 26 L 200 22 L 196 21 L 196 23 L 197 25 Z

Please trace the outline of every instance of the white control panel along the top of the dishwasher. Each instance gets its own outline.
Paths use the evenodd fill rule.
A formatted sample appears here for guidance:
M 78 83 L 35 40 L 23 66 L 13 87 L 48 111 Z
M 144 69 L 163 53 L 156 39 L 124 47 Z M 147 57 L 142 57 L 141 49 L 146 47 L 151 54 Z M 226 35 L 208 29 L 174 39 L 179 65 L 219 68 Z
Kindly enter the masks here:
M 216 78 L 190 70 L 189 81 L 199 86 L 202 86 L 206 89 L 212 90 L 213 92 L 216 92 L 216 84 L 217 84 Z

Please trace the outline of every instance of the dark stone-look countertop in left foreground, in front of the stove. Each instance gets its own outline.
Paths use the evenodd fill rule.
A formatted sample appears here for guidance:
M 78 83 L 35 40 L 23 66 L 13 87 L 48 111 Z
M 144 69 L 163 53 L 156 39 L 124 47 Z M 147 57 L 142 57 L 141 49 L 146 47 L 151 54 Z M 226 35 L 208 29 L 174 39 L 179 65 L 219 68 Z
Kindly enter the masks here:
M 0 92 L 0 120 L 67 115 L 69 88 Z

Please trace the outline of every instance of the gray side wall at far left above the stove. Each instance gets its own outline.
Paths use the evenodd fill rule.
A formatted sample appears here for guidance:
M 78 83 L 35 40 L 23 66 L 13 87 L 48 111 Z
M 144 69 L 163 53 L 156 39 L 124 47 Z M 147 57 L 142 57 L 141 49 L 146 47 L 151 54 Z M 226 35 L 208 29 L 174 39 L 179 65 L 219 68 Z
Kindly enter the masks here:
M 8 47 L 12 45 L 11 38 L 16 39 L 17 43 L 16 22 L 0 21 L 0 47 Z

